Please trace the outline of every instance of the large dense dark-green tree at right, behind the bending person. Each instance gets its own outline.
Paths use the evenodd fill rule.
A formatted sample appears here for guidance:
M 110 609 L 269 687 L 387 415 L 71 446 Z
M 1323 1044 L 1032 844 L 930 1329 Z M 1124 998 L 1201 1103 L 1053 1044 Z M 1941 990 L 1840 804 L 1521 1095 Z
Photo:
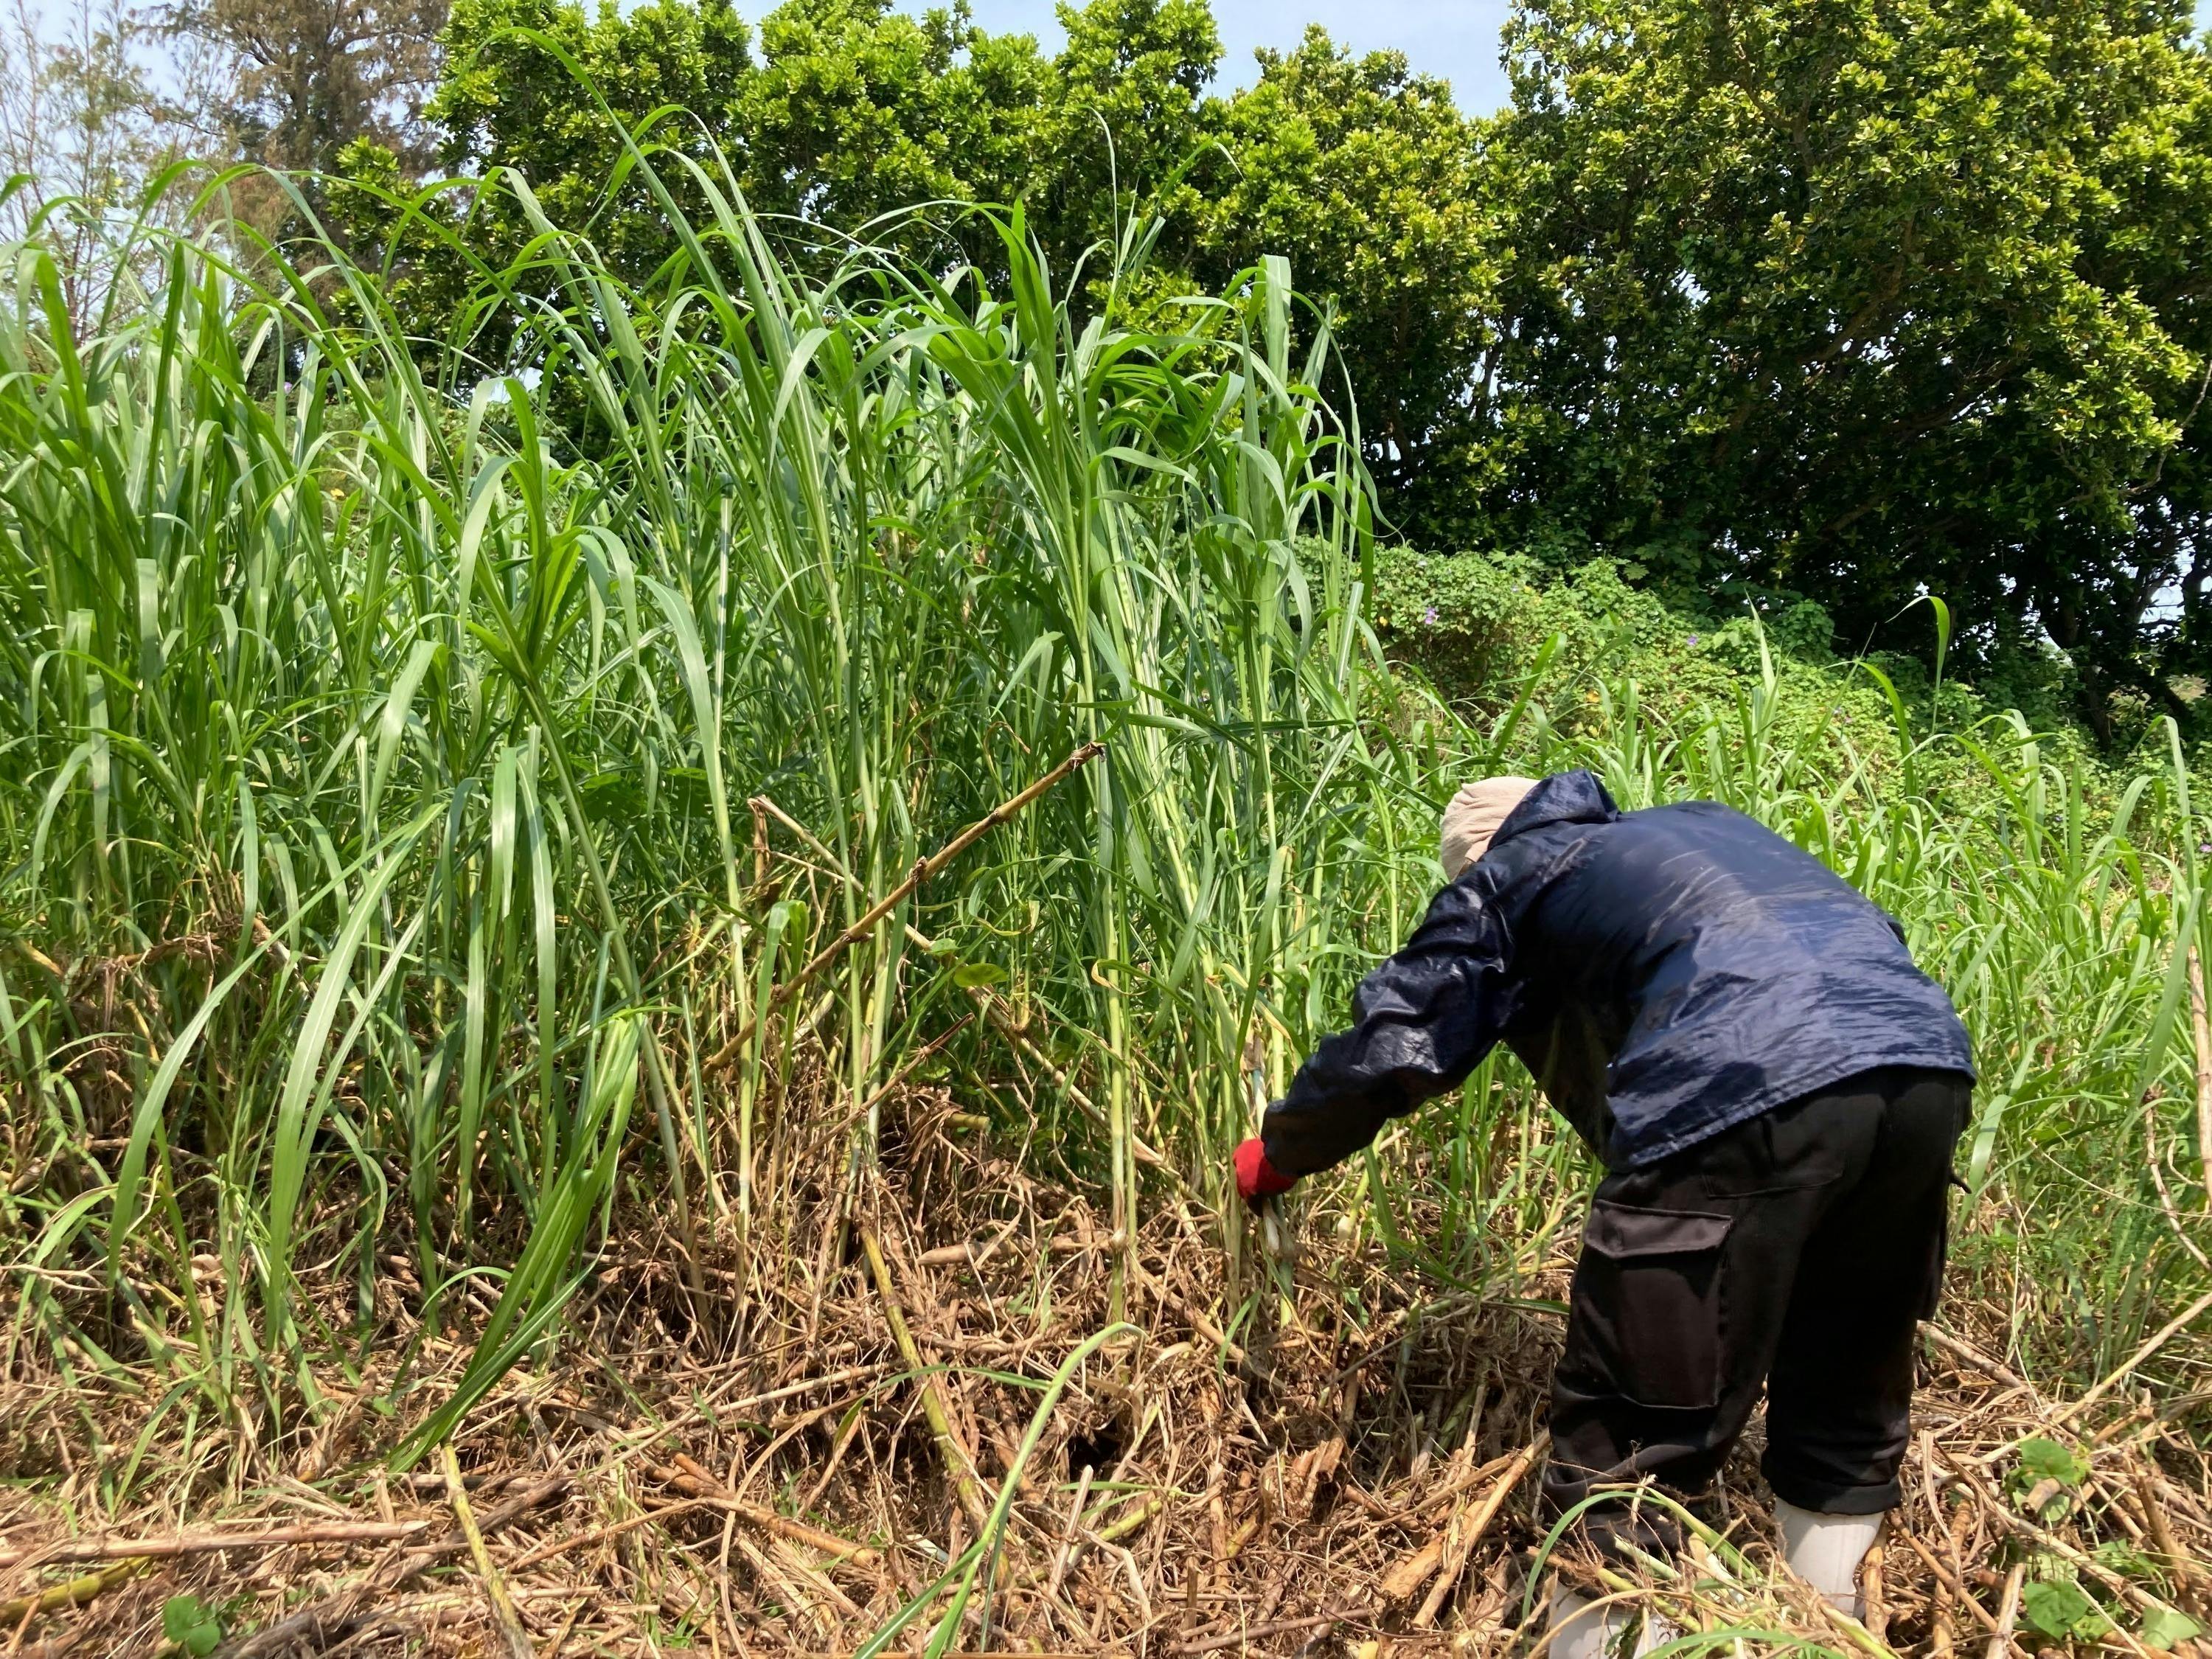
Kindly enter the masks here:
M 2212 82 L 2183 4 L 1531 0 L 1491 135 L 1511 538 L 2203 661 Z

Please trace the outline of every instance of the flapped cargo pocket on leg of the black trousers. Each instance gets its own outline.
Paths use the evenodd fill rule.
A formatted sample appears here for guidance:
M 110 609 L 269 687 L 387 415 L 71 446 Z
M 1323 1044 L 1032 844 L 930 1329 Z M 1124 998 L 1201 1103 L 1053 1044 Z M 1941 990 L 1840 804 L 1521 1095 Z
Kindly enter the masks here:
M 1593 1203 L 1562 1369 L 1637 1405 L 1719 1405 L 1721 1245 L 1732 1221 Z

